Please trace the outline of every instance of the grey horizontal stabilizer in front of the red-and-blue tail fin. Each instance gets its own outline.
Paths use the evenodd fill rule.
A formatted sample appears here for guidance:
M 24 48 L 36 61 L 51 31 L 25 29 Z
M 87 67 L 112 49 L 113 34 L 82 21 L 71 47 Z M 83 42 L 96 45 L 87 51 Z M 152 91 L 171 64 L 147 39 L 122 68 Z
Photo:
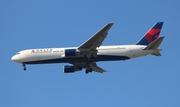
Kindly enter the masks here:
M 155 41 L 150 43 L 146 48 L 144 48 L 144 50 L 157 49 L 159 47 L 159 45 L 161 44 L 163 39 L 164 39 L 164 36 L 159 37 L 158 39 L 156 39 Z

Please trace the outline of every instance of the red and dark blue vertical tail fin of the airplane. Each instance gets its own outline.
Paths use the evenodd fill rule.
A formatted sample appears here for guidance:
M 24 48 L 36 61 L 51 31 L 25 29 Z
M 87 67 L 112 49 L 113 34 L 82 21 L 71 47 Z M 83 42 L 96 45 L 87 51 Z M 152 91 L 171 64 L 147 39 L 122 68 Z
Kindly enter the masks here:
M 136 45 L 148 45 L 156 40 L 161 32 L 164 22 L 157 22 Z

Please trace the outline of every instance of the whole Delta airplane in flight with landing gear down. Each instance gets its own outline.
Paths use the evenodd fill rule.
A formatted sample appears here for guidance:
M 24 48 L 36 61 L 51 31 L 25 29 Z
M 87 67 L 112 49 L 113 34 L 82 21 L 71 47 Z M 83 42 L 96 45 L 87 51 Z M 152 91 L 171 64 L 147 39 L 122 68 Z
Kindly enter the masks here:
M 11 60 L 22 64 L 70 63 L 63 67 L 64 73 L 74 73 L 85 69 L 88 74 L 92 71 L 103 73 L 107 70 L 100 68 L 96 62 L 128 60 L 149 54 L 161 56 L 159 46 L 164 36 L 159 36 L 164 22 L 156 22 L 149 31 L 133 45 L 101 46 L 114 23 L 110 22 L 100 31 L 89 38 L 79 47 L 27 49 L 18 52 Z

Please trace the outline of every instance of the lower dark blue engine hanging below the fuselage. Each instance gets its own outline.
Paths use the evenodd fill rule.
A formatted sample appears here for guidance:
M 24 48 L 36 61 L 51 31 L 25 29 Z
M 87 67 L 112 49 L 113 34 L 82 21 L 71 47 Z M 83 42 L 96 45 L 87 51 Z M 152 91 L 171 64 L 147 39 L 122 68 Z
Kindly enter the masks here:
M 73 65 L 65 65 L 64 66 L 64 73 L 74 73 L 75 71 L 80 71 L 82 68 L 75 67 Z

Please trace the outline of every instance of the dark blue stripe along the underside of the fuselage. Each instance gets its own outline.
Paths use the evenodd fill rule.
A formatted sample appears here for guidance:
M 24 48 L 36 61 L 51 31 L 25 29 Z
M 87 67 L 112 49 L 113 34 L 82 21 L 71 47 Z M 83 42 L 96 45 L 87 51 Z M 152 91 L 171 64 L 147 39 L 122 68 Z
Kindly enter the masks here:
M 130 59 L 127 56 L 111 56 L 111 55 L 97 55 L 96 58 L 92 58 L 93 62 L 98 61 L 117 61 L 117 60 L 127 60 Z M 83 63 L 88 62 L 89 60 L 85 57 L 77 57 L 77 58 L 57 58 L 57 59 L 49 59 L 49 60 L 40 60 L 40 61 L 31 61 L 24 62 L 26 64 L 49 64 L 49 63 Z

